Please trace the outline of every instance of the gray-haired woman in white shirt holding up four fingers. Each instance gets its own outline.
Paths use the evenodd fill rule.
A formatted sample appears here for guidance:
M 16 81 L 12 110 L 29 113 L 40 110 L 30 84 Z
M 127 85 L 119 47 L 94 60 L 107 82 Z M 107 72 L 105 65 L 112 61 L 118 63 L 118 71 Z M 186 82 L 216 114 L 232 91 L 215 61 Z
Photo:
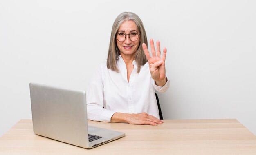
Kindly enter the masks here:
M 166 91 L 166 48 L 160 58 L 160 42 L 150 40 L 140 18 L 131 12 L 115 20 L 107 61 L 101 63 L 87 89 L 88 119 L 129 124 L 162 124 L 155 90 Z

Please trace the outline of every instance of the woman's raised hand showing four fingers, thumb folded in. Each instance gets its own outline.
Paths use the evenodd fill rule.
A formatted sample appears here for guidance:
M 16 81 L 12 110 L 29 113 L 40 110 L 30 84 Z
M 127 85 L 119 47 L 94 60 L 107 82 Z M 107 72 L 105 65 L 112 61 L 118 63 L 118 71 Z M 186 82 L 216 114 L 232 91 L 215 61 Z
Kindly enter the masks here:
M 155 51 L 154 41 L 150 39 L 150 47 L 152 57 L 149 54 L 148 48 L 145 43 L 142 44 L 142 48 L 148 59 L 149 69 L 151 73 L 152 79 L 155 80 L 156 84 L 159 86 L 163 86 L 166 83 L 166 75 L 165 75 L 165 58 L 167 49 L 164 47 L 163 55 L 161 58 L 161 51 L 160 51 L 160 42 L 157 41 L 157 51 Z

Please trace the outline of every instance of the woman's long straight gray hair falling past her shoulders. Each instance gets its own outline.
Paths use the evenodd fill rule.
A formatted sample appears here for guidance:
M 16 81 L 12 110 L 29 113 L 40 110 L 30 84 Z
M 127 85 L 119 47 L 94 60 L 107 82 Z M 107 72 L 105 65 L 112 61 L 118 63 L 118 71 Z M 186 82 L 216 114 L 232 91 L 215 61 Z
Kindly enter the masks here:
M 139 18 L 139 16 L 137 16 L 135 13 L 132 13 L 132 12 L 123 12 L 120 15 L 118 15 L 117 18 L 115 19 L 115 22 L 112 26 L 111 36 L 110 36 L 107 67 L 112 71 L 119 72 L 116 64 L 117 64 L 118 55 L 120 55 L 120 51 L 117 47 L 116 33 L 119 27 L 121 26 L 121 24 L 128 20 L 132 20 L 133 22 L 135 22 L 140 32 L 140 43 L 139 43 L 138 50 L 135 53 L 135 61 L 137 63 L 137 68 L 138 68 L 137 73 L 139 73 L 141 66 L 146 64 L 146 62 L 148 61 L 142 49 L 142 43 L 145 43 L 148 46 L 148 40 L 147 40 L 146 31 L 144 29 L 141 19 Z

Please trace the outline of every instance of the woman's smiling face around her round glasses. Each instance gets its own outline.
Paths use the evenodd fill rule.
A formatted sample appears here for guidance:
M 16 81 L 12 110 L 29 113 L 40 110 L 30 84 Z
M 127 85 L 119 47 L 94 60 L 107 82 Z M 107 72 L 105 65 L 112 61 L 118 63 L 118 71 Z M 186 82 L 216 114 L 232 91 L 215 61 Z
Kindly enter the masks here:
M 137 29 L 137 25 L 132 20 L 125 21 L 121 24 L 119 27 L 117 34 L 124 33 L 124 34 L 130 34 L 130 33 L 138 33 L 139 30 Z M 117 40 L 117 39 L 116 39 Z M 133 57 L 135 58 L 135 53 L 139 47 L 140 42 L 140 36 L 138 40 L 131 41 L 129 38 L 129 35 L 126 35 L 126 38 L 124 41 L 120 42 L 117 40 L 117 47 L 120 51 L 120 55 L 122 58 L 124 57 Z

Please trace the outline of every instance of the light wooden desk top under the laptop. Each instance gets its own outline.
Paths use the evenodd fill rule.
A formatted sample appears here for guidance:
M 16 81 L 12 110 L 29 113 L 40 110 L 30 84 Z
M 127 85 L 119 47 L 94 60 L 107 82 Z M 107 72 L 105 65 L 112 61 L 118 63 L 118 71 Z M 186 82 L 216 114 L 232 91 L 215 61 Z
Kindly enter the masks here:
M 256 155 L 256 136 L 236 119 L 164 120 L 158 126 L 89 121 L 126 137 L 85 149 L 35 135 L 20 120 L 0 137 L 0 155 Z

